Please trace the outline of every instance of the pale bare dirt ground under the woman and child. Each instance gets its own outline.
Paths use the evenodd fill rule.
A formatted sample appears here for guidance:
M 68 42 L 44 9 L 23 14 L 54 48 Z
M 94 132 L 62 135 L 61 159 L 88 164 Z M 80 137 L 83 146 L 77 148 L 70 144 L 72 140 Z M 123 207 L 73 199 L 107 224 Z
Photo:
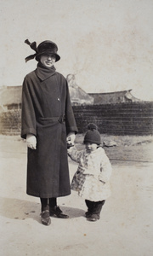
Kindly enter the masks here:
M 150 256 L 153 255 L 153 137 L 102 136 L 111 159 L 111 197 L 98 222 L 84 218 L 82 198 L 72 191 L 59 198 L 69 219 L 40 221 L 40 201 L 26 195 L 26 143 L 0 136 L 0 255 Z M 77 136 L 81 149 L 82 135 Z M 69 159 L 70 174 L 77 164 Z

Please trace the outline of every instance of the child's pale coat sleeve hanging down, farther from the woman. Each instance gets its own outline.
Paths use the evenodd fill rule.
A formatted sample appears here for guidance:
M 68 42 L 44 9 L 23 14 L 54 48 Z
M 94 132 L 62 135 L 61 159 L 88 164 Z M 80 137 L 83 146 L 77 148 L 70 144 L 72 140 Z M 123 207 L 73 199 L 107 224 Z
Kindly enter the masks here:
M 106 183 L 110 180 L 112 172 L 111 162 L 105 152 L 102 155 L 102 160 L 100 164 L 100 174 L 99 180 Z

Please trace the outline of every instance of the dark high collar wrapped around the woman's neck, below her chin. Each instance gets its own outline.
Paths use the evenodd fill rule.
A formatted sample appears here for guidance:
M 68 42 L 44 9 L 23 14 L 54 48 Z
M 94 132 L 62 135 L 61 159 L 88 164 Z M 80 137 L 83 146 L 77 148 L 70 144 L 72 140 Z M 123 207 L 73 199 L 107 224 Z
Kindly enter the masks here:
M 53 76 L 56 72 L 55 67 L 44 67 L 41 62 L 37 64 L 37 69 L 35 70 L 37 77 L 42 81 L 48 79 L 49 77 Z

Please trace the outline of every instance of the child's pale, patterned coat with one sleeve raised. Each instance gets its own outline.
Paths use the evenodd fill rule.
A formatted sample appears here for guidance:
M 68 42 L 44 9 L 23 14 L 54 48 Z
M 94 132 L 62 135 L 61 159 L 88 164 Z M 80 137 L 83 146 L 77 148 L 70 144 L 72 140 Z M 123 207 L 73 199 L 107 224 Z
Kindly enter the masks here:
M 88 153 L 86 149 L 68 149 L 72 160 L 79 163 L 72 178 L 71 189 L 78 192 L 83 199 L 103 201 L 111 195 L 111 163 L 103 148 Z

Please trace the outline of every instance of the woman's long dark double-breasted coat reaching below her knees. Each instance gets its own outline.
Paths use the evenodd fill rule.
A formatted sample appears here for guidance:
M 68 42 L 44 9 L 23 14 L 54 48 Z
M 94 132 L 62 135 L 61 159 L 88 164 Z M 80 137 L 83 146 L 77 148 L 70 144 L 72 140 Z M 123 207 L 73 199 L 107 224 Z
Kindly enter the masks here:
M 51 71 L 52 70 L 52 71 Z M 66 79 L 41 64 L 26 75 L 22 88 L 21 137 L 37 137 L 28 148 L 27 194 L 42 198 L 71 194 L 66 136 L 77 133 Z

